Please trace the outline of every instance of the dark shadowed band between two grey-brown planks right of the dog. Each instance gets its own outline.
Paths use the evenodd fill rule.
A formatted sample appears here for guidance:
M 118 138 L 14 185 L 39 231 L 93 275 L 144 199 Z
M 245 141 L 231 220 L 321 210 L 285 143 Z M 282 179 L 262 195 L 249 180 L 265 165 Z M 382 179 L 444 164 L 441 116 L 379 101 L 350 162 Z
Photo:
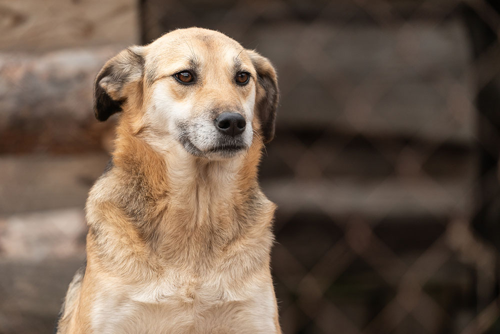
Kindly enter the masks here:
M 265 150 L 260 180 L 336 179 L 374 181 L 388 176 L 426 175 L 439 182 L 472 182 L 478 175 L 472 145 L 366 137 L 332 130 L 280 127 Z

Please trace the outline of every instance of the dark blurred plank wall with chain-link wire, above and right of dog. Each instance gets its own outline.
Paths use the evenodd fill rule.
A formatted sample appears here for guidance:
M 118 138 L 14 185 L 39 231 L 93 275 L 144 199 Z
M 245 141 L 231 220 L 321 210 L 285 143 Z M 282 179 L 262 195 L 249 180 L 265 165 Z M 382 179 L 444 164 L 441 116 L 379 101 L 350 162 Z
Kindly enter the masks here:
M 261 167 L 285 333 L 498 333 L 500 4 L 142 0 L 277 67 Z M 229 9 L 228 9 L 229 8 Z

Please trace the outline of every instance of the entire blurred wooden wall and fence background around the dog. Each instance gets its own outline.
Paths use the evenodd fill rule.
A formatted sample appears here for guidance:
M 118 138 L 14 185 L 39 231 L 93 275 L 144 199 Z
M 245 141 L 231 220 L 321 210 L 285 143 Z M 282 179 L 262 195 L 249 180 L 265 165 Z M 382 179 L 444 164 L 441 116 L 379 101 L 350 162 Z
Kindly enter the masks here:
M 0 333 L 49 333 L 112 149 L 92 81 L 218 29 L 281 89 L 264 192 L 285 334 L 500 333 L 500 3 L 0 0 Z

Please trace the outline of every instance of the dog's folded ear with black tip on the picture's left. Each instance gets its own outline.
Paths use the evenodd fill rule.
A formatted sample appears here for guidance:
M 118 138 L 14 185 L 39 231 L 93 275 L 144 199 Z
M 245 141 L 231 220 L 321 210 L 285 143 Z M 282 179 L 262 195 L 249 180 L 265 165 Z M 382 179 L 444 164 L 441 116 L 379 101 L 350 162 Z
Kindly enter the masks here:
M 106 120 L 121 111 L 132 82 L 143 73 L 142 46 L 130 46 L 109 59 L 101 68 L 94 82 L 94 113 L 98 120 Z

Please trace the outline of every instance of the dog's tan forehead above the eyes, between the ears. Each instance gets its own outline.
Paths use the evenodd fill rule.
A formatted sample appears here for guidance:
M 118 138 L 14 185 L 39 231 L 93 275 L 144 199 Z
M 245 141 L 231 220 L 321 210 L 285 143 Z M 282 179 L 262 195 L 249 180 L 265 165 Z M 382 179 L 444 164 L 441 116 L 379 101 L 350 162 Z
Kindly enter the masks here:
M 221 32 L 203 28 L 173 30 L 146 47 L 146 67 L 151 78 L 187 69 L 193 62 L 233 66 L 237 59 L 251 66 L 241 44 Z

